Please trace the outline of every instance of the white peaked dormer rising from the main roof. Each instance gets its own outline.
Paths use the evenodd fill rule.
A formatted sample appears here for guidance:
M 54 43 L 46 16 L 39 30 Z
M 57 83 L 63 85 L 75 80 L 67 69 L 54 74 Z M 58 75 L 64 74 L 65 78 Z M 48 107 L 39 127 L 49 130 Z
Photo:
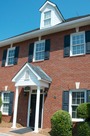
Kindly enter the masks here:
M 57 6 L 49 1 L 47 1 L 41 8 L 41 21 L 40 21 L 40 29 L 55 26 L 62 21 L 64 21 L 63 16 L 61 15 L 60 11 L 58 10 Z M 49 25 L 45 25 L 45 13 L 50 12 L 50 18 L 51 21 Z M 47 22 L 48 23 L 48 22 Z

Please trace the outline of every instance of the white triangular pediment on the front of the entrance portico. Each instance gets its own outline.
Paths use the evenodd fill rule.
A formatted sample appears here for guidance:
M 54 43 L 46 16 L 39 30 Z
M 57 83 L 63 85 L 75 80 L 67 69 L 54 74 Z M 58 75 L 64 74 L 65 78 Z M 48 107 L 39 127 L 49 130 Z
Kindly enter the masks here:
M 41 73 L 40 73 L 41 72 Z M 38 69 L 29 63 L 26 63 L 21 70 L 15 75 L 12 79 L 12 82 L 15 82 L 15 86 L 43 86 L 49 87 L 47 79 L 42 79 L 39 74 L 43 75 L 44 71 Z M 44 73 L 45 74 L 45 73 Z M 44 75 L 45 76 L 45 75 Z

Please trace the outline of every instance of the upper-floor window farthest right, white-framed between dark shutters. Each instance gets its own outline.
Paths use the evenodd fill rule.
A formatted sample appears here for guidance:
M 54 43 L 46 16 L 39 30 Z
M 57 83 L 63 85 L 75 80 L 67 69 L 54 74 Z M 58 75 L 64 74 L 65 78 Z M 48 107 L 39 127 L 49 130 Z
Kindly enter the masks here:
M 71 47 L 70 55 L 82 55 L 85 54 L 85 33 L 75 33 L 71 35 Z

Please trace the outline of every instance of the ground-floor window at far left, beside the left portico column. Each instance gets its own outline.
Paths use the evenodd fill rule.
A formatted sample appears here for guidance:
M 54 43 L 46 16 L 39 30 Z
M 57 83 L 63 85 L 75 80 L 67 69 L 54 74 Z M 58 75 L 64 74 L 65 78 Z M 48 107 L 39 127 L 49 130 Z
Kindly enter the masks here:
M 10 93 L 2 93 L 2 114 L 8 115 L 10 103 Z

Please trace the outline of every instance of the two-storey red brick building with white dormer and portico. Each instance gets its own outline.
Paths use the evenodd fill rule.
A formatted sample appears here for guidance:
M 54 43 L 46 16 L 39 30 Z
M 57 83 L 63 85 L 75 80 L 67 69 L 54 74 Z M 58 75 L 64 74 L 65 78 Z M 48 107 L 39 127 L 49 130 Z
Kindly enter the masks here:
M 83 121 L 76 108 L 90 102 L 90 15 L 65 20 L 50 1 L 40 12 L 40 29 L 0 42 L 3 120 L 36 132 L 59 109 Z

